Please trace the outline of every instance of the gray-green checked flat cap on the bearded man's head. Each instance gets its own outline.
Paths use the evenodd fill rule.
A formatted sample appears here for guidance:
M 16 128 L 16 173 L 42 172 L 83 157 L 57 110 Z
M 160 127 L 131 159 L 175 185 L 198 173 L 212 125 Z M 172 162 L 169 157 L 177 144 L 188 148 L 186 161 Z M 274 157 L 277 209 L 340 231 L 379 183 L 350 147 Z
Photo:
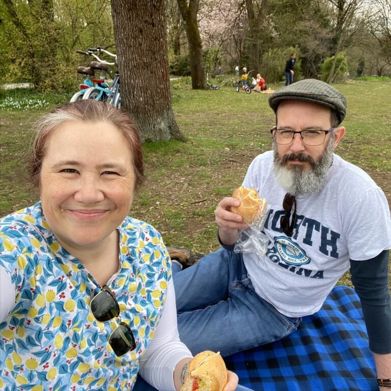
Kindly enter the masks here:
M 346 115 L 346 98 L 334 87 L 316 79 L 304 79 L 283 87 L 269 97 L 269 106 L 274 113 L 282 100 L 296 99 L 322 104 L 336 110 L 340 123 Z

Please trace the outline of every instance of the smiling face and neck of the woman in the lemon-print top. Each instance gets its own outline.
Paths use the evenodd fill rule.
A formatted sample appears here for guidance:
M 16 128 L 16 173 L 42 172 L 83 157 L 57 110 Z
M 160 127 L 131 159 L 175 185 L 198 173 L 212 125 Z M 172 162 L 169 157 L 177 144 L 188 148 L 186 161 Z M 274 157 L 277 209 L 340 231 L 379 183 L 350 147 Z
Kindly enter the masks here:
M 98 266 L 101 285 L 118 267 L 117 262 L 107 264 L 107 259 L 116 259 L 116 228 L 133 201 L 132 160 L 124 135 L 114 125 L 76 121 L 64 122 L 51 134 L 42 160 L 41 204 L 46 221 L 68 252 Z M 86 248 L 91 249 L 87 255 Z M 99 267 L 99 261 L 105 268 Z

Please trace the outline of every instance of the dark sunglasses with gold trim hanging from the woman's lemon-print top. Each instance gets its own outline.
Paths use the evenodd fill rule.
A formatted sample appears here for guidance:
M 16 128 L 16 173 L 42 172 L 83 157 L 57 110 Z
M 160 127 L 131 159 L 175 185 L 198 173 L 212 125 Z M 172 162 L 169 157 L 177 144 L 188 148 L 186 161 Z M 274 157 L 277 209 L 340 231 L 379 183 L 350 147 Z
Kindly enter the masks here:
M 120 315 L 118 301 L 107 285 L 92 298 L 90 310 L 94 318 L 102 323 L 118 318 Z M 136 347 L 133 332 L 124 322 L 117 323 L 117 327 L 108 338 L 108 343 L 117 356 L 123 356 Z

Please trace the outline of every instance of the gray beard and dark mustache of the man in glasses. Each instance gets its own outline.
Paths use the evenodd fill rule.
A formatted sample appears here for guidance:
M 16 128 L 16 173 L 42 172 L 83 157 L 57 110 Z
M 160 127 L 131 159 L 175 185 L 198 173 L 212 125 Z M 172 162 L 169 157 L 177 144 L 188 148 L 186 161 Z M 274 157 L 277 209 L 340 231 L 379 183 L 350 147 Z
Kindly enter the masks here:
M 324 177 L 332 164 L 334 134 L 331 134 L 326 149 L 318 160 L 304 153 L 291 153 L 280 157 L 275 143 L 273 143 L 273 152 L 275 179 L 286 192 L 292 195 L 316 193 L 322 189 Z M 300 165 L 293 165 L 288 168 L 287 164 L 292 159 L 310 162 L 311 169 L 303 170 L 303 167 Z

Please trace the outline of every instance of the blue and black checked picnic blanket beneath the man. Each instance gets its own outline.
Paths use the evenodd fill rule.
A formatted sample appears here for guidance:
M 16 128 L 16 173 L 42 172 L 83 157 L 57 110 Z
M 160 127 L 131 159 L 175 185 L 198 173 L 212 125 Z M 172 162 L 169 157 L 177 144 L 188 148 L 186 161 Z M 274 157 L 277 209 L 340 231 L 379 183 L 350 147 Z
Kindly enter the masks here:
M 335 287 L 290 336 L 224 360 L 255 391 L 379 389 L 360 301 L 345 286 Z

